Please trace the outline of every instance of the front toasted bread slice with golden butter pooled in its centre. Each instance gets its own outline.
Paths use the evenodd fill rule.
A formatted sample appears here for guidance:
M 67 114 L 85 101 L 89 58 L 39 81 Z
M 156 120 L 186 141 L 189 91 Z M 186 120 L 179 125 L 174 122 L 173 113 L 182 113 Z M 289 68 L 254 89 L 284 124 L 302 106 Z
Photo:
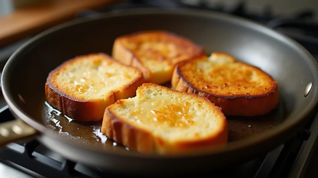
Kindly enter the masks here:
M 153 83 L 105 110 L 101 132 L 140 153 L 179 154 L 225 146 L 227 122 L 205 97 Z

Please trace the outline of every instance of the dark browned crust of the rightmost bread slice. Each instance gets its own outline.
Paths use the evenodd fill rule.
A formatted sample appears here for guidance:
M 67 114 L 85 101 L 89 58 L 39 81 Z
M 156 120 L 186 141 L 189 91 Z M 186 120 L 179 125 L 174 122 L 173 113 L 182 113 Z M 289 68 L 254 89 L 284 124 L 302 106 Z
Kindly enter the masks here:
M 243 94 L 239 96 L 232 96 L 230 93 L 209 93 L 194 87 L 193 84 L 187 80 L 187 76 L 182 75 L 180 72 L 180 68 L 183 65 L 195 60 L 200 60 L 200 58 L 193 58 L 188 61 L 181 62 L 175 67 L 171 79 L 171 85 L 174 89 L 208 98 L 212 103 L 221 107 L 226 116 L 259 116 L 264 115 L 277 107 L 279 103 L 277 82 L 275 82 L 270 75 L 266 74 L 261 69 L 244 63 L 246 66 L 253 67 L 255 70 L 263 72 L 264 75 L 267 75 L 273 81 L 272 85 L 268 86 L 267 92 L 263 92 L 259 95 Z

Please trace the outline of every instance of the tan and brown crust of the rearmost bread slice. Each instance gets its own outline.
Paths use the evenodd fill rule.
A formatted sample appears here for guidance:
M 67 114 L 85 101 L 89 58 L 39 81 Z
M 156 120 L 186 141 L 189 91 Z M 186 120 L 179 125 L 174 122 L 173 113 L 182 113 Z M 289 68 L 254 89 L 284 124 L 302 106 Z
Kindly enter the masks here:
M 176 65 L 176 64 L 172 64 L 170 66 L 170 69 L 167 72 L 162 73 L 160 75 L 160 77 L 154 76 L 154 74 L 151 72 L 151 70 L 142 64 L 142 62 L 139 60 L 139 58 L 137 57 L 137 55 L 135 54 L 134 51 L 131 51 L 131 50 L 125 48 L 124 45 L 122 45 L 122 40 L 129 39 L 129 38 L 136 37 L 136 36 L 140 36 L 140 35 L 147 35 L 147 34 L 154 34 L 158 37 L 160 37 L 161 35 L 168 35 L 171 38 L 171 41 L 174 41 L 176 39 L 183 41 L 185 44 L 188 44 L 188 46 L 195 49 L 194 50 L 195 52 L 192 53 L 191 56 L 189 56 L 189 59 L 194 57 L 194 56 L 199 56 L 199 55 L 202 55 L 205 53 L 205 50 L 202 46 L 198 46 L 198 45 L 194 44 L 192 41 L 190 41 L 189 39 L 186 39 L 184 37 L 181 37 L 179 35 L 176 35 L 172 32 L 167 32 L 167 31 L 159 31 L 159 30 L 140 31 L 140 32 L 136 32 L 136 33 L 129 34 L 129 35 L 123 35 L 123 36 L 116 38 L 114 41 L 114 45 L 113 45 L 112 56 L 116 60 L 121 61 L 122 63 L 124 63 L 126 65 L 130 65 L 130 66 L 139 68 L 139 70 L 142 71 L 143 77 L 145 78 L 146 82 L 156 83 L 156 84 L 162 84 L 165 82 L 169 82 L 171 80 L 171 77 L 172 77 L 173 69 Z

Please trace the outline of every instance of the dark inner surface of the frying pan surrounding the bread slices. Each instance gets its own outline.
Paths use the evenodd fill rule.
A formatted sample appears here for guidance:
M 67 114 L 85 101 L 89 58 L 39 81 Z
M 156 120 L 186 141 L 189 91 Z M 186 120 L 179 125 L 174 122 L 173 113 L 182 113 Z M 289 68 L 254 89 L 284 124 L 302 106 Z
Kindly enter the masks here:
M 111 55 L 116 37 L 142 30 L 175 32 L 203 45 L 207 55 L 215 51 L 230 53 L 278 81 L 280 104 L 277 109 L 260 117 L 228 117 L 230 142 L 257 137 L 289 122 L 314 95 L 310 93 L 305 98 L 303 94 L 307 84 L 315 80 L 310 62 L 304 61 L 304 53 L 274 34 L 218 16 L 139 14 L 75 24 L 32 42 L 15 56 L 8 71 L 15 103 L 49 128 L 47 132 L 52 130 L 61 137 L 107 151 L 136 154 L 98 134 L 101 122 L 83 124 L 70 122 L 63 113 L 57 116 L 57 112 L 45 104 L 44 86 L 48 73 L 63 61 L 88 53 Z M 24 105 L 18 95 L 24 98 Z

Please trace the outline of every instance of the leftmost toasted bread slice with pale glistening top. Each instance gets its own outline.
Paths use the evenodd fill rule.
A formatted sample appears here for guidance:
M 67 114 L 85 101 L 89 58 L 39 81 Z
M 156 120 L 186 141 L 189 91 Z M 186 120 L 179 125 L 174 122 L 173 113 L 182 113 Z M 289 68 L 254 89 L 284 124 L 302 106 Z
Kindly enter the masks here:
M 107 106 L 135 96 L 143 82 L 138 69 L 106 54 L 88 54 L 51 71 L 45 83 L 45 96 L 52 107 L 74 120 L 98 121 Z

